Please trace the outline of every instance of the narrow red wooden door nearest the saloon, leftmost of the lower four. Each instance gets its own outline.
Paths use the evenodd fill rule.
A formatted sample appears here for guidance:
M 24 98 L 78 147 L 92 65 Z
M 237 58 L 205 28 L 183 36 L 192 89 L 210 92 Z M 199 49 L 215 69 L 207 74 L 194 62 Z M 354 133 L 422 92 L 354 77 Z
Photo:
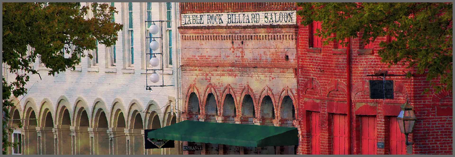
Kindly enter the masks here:
M 319 132 L 319 112 L 311 112 L 311 154 L 320 154 L 321 152 Z

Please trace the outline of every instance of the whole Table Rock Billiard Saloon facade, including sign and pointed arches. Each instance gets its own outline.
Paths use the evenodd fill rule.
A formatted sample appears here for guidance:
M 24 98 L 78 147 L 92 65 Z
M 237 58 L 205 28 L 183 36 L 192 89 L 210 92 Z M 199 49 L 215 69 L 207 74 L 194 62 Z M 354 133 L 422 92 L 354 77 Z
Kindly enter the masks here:
M 180 3 L 182 120 L 296 127 L 294 3 Z M 294 154 L 212 143 L 184 154 Z

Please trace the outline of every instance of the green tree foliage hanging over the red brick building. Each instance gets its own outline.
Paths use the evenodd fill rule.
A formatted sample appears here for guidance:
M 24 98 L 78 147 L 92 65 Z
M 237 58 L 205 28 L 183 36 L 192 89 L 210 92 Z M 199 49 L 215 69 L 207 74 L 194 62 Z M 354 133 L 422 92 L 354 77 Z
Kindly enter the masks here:
M 415 74 L 425 74 L 432 87 L 452 90 L 452 3 L 297 3 L 302 24 L 321 21 L 317 34 L 328 41 L 357 38 L 362 42 L 378 37 L 383 63 L 408 65 Z M 336 35 L 332 35 L 336 34 Z M 411 77 L 411 71 L 408 77 Z M 429 88 L 425 90 L 428 92 Z

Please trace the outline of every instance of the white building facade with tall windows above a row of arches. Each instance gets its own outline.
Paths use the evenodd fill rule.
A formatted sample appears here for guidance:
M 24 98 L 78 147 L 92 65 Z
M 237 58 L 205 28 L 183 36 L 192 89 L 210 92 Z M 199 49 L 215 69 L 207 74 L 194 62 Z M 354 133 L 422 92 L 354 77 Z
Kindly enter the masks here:
M 21 141 L 21 147 L 10 153 L 17 154 L 177 154 L 175 148 L 144 149 L 144 129 L 156 129 L 180 121 L 178 100 L 179 76 L 177 3 L 107 3 L 119 11 L 114 22 L 124 25 L 118 32 L 115 45 L 98 44 L 93 59 L 81 58 L 75 70 L 47 76 L 47 69 L 39 59 L 33 64 L 38 75 L 31 75 L 28 93 L 13 98 L 12 119 L 22 119 L 23 128 L 11 133 L 10 140 Z M 91 3 L 81 3 L 90 6 Z M 93 15 L 89 13 L 87 18 Z M 170 87 L 152 87 L 146 90 L 146 66 L 151 34 L 146 20 L 163 22 L 162 44 L 157 52 L 158 74 Z M 156 23 L 160 25 L 160 23 Z M 160 34 L 155 35 L 160 35 Z M 154 52 L 154 53 L 157 53 Z M 4 65 L 5 67 L 5 65 Z M 155 67 L 155 69 L 158 69 Z M 4 72 L 6 72 L 4 70 Z M 152 73 L 152 71 L 148 71 Z M 15 74 L 4 73 L 8 80 Z M 150 75 L 149 75 L 150 76 Z M 148 85 L 161 85 L 160 82 Z M 177 105 L 176 105 L 177 104 Z M 20 120 L 10 121 L 14 127 Z

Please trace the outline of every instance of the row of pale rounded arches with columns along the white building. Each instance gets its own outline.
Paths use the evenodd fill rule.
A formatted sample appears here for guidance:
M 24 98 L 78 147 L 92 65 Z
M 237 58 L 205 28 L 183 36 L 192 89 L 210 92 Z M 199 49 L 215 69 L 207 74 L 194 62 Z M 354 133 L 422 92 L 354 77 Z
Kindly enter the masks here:
M 141 103 L 132 100 L 126 109 L 118 98 L 110 108 L 101 98 L 92 107 L 81 97 L 74 105 L 64 96 L 55 105 L 48 98 L 39 105 L 27 98 L 23 108 L 12 101 L 16 105 L 10 108 L 13 120 L 9 125 L 22 121 L 22 139 L 28 140 L 21 154 L 147 154 L 143 130 L 177 123 L 172 103 L 163 106 L 162 112 L 152 101 L 142 109 Z

